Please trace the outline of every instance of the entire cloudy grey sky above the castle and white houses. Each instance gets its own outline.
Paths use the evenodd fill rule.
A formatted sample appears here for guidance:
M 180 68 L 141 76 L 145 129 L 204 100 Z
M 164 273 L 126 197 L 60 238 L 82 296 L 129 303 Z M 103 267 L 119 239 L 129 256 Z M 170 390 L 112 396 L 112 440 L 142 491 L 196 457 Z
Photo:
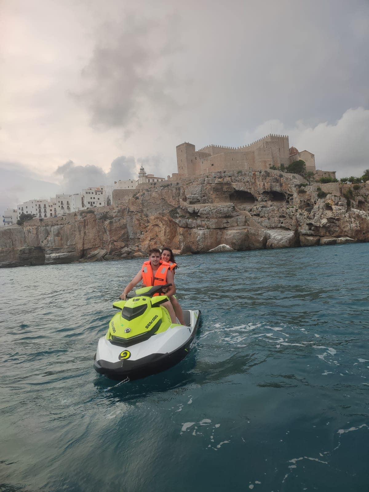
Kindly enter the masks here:
M 1 0 L 0 211 L 268 133 L 369 168 L 368 0 Z

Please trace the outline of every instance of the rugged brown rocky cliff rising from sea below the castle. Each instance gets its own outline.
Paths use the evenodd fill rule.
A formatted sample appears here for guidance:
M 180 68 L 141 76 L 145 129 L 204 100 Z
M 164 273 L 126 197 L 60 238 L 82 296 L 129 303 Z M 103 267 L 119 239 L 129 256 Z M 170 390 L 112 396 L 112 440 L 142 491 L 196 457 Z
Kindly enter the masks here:
M 162 245 L 197 253 L 369 241 L 369 182 L 304 184 L 238 171 L 116 190 L 113 207 L 3 228 L 0 266 L 124 259 Z

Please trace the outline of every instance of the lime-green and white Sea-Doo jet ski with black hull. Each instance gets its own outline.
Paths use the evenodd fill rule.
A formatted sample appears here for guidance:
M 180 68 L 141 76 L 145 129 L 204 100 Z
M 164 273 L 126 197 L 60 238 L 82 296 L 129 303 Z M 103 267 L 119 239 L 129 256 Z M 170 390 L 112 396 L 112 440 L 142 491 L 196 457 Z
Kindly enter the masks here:
M 93 367 L 98 373 L 121 381 L 139 379 L 169 369 L 189 353 L 201 311 L 186 309 L 186 324 L 172 323 L 161 306 L 169 300 L 163 289 L 170 285 L 143 287 L 128 294 L 127 300 L 113 303 L 120 312 L 97 343 Z

